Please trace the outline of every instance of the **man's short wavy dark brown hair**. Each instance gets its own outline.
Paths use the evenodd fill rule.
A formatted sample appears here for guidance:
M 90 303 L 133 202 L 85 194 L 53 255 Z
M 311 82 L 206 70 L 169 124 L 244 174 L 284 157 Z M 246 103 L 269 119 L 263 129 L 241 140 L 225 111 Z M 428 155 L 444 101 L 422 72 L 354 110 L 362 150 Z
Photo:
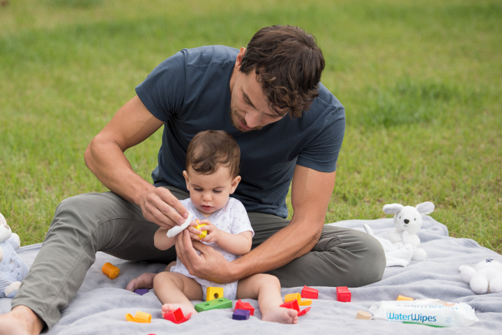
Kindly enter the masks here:
M 319 95 L 324 56 L 314 36 L 297 26 L 267 26 L 250 40 L 241 72 L 254 70 L 277 114 L 301 116 Z

